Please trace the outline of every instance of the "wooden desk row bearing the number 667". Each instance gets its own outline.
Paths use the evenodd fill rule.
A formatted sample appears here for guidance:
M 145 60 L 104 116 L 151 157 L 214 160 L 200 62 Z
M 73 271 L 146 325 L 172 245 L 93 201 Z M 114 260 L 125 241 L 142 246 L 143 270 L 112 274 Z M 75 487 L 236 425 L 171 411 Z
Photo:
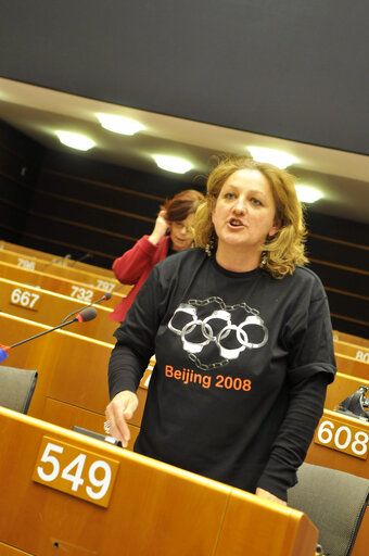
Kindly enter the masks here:
M 84 301 L 60 293 L 0 278 L 0 309 L 11 315 L 53 327 L 60 325 L 71 313 L 79 312 L 87 305 L 88 303 Z M 80 323 L 68 325 L 68 331 L 114 345 L 113 333 L 118 324 L 109 318 L 113 309 L 104 307 L 103 304 L 96 305 L 96 309 L 98 315 L 93 320 L 82 325 Z

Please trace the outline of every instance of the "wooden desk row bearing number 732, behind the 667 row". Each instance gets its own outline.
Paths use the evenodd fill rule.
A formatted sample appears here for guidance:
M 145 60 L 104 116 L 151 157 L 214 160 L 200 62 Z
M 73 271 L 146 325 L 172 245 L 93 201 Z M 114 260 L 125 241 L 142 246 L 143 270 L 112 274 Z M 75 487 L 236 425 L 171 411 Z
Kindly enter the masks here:
M 92 303 L 92 301 L 100 299 L 105 293 L 104 290 L 93 288 L 92 286 L 87 287 L 75 280 L 23 268 L 1 260 L 0 276 L 35 288 L 61 293 L 78 301 L 86 301 L 87 303 Z M 125 292 L 128 292 L 130 288 L 130 286 L 123 287 L 122 290 L 113 292 L 111 299 L 104 301 L 104 306 L 114 308 L 126 296 Z

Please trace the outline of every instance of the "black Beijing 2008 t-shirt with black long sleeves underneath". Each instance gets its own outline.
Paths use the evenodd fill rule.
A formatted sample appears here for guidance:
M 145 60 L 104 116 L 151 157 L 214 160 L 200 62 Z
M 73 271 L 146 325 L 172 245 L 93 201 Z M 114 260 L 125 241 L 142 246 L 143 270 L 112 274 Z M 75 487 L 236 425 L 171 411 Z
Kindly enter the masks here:
M 327 296 L 311 270 L 277 280 L 184 251 L 153 268 L 115 336 L 112 397 L 136 391 L 156 356 L 137 452 L 287 497 L 335 372 Z

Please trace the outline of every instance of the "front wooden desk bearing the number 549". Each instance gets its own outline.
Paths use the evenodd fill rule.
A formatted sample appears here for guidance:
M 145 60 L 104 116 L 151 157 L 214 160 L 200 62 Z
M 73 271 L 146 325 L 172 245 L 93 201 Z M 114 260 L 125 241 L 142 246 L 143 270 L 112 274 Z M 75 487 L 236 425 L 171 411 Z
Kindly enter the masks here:
M 315 554 L 318 532 L 301 511 L 4 408 L 0 434 L 5 549 L 35 556 Z M 106 468 L 116 472 L 112 481 Z M 33 480 L 40 472 L 48 482 Z M 105 485 L 111 496 L 102 507 L 88 493 L 99 495 Z

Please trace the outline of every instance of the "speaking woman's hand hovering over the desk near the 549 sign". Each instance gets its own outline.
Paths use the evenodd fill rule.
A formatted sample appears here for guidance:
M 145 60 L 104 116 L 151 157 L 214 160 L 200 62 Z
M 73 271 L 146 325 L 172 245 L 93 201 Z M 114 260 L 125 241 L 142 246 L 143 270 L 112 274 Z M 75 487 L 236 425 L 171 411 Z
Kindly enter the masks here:
M 137 394 L 130 390 L 124 390 L 113 397 L 105 409 L 106 420 L 110 427 L 109 434 L 120 440 L 124 447 L 127 447 L 130 439 L 127 420 L 132 418 L 137 407 Z

